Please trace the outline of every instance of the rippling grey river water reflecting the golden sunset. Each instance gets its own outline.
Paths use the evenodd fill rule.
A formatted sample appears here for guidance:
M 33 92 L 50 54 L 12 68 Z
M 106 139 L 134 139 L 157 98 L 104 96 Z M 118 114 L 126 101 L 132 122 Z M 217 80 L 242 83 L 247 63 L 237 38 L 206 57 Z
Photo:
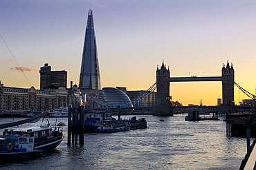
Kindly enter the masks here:
M 190 122 L 185 121 L 186 115 L 136 115 L 146 118 L 147 129 L 84 134 L 83 146 L 68 147 L 64 127 L 64 140 L 51 153 L 1 164 L 0 169 L 239 169 L 246 154 L 246 138 L 226 136 L 226 122 L 222 120 Z M 159 121 L 162 118 L 165 121 Z M 67 118 L 48 120 L 52 127 L 56 122 L 67 125 Z M 12 118 L 1 118 L 0 124 L 11 121 Z M 42 124 L 47 121 L 19 128 Z

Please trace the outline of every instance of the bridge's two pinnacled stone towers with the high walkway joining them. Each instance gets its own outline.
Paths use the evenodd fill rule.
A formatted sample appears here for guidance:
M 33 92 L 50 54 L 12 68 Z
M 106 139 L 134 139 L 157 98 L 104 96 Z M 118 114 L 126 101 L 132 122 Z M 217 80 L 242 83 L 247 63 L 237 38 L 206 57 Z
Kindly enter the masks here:
M 154 116 L 172 116 L 170 111 L 170 82 L 192 82 L 192 81 L 221 81 L 222 83 L 222 105 L 219 112 L 226 113 L 234 106 L 234 79 L 235 71 L 233 65 L 227 62 L 223 65 L 221 76 L 191 76 L 170 77 L 170 70 L 164 63 L 156 70 L 156 106 L 153 108 Z

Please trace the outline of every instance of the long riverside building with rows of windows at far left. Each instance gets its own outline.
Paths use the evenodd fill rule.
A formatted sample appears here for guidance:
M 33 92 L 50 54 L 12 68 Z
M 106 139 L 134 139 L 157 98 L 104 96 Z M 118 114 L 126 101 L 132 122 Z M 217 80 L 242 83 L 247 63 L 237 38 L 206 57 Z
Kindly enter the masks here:
M 35 87 L 4 87 L 0 81 L 0 110 L 45 111 L 66 107 L 68 93 L 66 88 L 38 90 Z

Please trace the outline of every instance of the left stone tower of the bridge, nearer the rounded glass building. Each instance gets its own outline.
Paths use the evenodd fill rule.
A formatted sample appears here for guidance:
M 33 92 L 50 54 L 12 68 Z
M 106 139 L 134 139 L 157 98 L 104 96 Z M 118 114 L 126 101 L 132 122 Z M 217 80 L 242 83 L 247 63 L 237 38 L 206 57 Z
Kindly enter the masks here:
M 153 116 L 172 116 L 170 111 L 170 70 L 164 63 L 160 69 L 156 69 L 156 106 L 153 108 Z

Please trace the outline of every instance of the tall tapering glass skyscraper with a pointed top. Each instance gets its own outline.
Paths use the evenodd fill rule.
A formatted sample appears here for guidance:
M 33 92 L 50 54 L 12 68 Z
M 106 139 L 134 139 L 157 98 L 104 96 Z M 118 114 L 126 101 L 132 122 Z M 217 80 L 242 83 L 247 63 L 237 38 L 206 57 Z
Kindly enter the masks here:
M 80 72 L 80 89 L 101 89 L 100 67 L 93 25 L 93 11 L 90 9 L 84 37 L 84 50 Z

